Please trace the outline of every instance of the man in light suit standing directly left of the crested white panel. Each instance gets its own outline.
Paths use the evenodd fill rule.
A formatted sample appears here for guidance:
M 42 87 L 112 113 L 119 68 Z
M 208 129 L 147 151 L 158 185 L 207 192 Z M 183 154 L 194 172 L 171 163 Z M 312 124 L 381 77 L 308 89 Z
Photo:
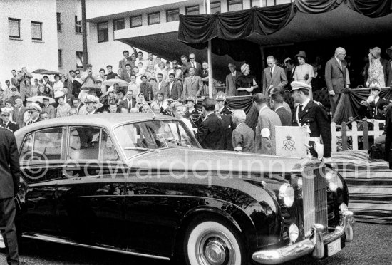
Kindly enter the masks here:
M 264 155 L 276 155 L 275 126 L 282 126 L 279 115 L 267 106 L 267 97 L 262 93 L 253 95 L 253 105 L 259 112 L 255 130 L 254 151 Z

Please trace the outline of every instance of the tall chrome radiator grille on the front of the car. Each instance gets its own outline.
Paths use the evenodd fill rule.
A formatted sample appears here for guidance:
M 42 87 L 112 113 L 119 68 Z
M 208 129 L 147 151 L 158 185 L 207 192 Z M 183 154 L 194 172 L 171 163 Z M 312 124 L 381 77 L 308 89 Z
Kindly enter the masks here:
M 326 180 L 323 175 L 318 168 L 305 169 L 304 172 L 302 190 L 305 237 L 309 237 L 311 234 L 313 224 L 322 224 L 324 227 L 328 227 Z

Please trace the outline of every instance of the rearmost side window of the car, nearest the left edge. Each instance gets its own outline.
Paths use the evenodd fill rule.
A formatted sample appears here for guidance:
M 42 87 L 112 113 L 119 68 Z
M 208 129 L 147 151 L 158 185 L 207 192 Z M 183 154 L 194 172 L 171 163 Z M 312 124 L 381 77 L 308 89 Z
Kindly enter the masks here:
M 21 162 L 31 160 L 60 160 L 63 128 L 39 130 L 26 135 L 21 148 Z

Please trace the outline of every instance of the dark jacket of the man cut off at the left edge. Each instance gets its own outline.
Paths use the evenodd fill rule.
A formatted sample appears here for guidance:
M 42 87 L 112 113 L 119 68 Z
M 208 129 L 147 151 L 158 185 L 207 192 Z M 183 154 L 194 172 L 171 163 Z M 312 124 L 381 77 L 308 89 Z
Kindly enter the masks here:
M 14 197 L 19 191 L 19 153 L 14 133 L 0 128 L 0 199 Z

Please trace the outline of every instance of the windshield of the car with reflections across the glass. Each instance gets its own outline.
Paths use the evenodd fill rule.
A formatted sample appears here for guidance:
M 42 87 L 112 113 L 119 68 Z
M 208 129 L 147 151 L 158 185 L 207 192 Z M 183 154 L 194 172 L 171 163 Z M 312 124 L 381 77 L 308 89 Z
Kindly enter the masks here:
M 139 152 L 167 147 L 199 147 L 195 137 L 179 120 L 148 120 L 114 129 L 127 159 Z

